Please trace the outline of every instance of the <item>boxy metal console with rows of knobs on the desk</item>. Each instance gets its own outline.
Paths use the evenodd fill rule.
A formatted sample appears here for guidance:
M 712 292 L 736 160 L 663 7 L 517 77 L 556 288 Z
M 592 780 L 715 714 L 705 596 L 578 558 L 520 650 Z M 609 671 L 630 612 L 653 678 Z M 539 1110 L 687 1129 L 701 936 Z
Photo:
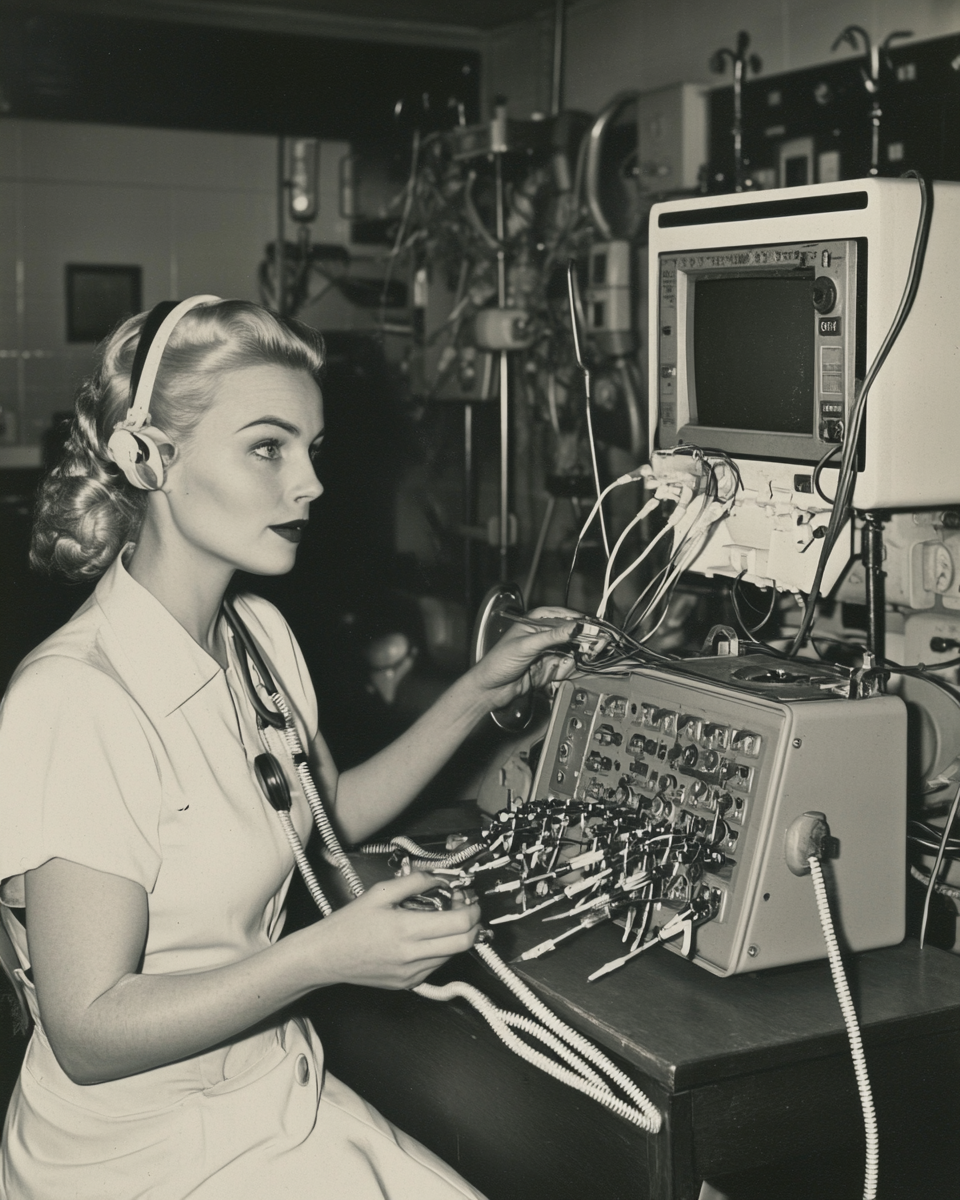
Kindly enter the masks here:
M 828 664 L 762 654 L 580 674 L 558 690 L 530 799 L 616 800 L 659 822 L 665 860 L 671 834 L 708 846 L 708 865 L 688 854 L 665 877 L 664 907 L 698 898 L 712 913 L 690 956 L 720 976 L 824 956 L 810 880 L 785 850 L 794 822 L 822 812 L 841 946 L 894 944 L 905 922 L 906 710 L 893 696 L 848 698 L 850 688 L 848 672 Z

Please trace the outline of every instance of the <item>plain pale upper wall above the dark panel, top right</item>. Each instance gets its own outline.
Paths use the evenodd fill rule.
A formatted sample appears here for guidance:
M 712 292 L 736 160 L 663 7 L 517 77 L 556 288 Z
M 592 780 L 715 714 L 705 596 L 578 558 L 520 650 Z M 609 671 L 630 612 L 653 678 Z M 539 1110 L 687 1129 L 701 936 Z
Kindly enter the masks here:
M 763 74 L 827 62 L 853 52 L 830 46 L 845 25 L 881 41 L 892 30 L 916 38 L 960 32 L 960 0 L 572 0 L 566 18 L 565 107 L 598 112 L 624 89 L 671 83 L 718 86 L 710 55 L 733 47 L 745 29 Z M 492 91 L 526 116 L 550 101 L 552 22 L 540 18 L 502 30 L 485 59 Z

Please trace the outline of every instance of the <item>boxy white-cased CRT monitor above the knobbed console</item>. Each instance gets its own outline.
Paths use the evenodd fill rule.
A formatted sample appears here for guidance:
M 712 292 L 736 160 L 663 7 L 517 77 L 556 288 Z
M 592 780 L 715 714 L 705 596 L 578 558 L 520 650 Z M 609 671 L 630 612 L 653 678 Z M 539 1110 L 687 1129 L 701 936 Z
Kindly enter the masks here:
M 854 504 L 960 500 L 960 185 L 932 185 L 913 310 L 868 400 Z M 656 205 L 650 426 L 744 461 L 839 450 L 889 329 L 920 211 L 913 179 L 858 179 Z M 788 472 L 786 472 L 788 475 Z

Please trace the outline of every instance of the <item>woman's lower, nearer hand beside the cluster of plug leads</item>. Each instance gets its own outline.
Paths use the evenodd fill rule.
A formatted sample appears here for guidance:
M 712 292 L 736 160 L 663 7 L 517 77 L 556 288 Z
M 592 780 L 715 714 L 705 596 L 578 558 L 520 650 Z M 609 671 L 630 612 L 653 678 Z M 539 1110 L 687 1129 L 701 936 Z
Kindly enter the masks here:
M 425 871 L 374 883 L 359 899 L 311 925 L 320 983 L 415 988 L 451 955 L 468 950 L 480 929 L 476 902 L 443 912 L 402 908 L 409 896 L 442 882 Z

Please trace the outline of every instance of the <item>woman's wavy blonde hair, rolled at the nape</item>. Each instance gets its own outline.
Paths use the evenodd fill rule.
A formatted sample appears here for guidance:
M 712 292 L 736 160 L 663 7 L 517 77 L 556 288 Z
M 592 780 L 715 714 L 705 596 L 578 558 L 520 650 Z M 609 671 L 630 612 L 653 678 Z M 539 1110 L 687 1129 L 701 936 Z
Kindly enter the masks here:
M 73 581 L 94 580 L 136 539 L 146 492 L 133 487 L 107 455 L 114 426 L 130 407 L 130 374 L 148 313 L 124 322 L 97 348 L 97 365 L 77 395 L 64 457 L 41 485 L 30 562 Z M 188 437 L 224 371 L 271 364 L 314 378 L 323 338 L 298 320 L 247 300 L 221 300 L 185 313 L 163 350 L 150 401 L 150 424 Z

